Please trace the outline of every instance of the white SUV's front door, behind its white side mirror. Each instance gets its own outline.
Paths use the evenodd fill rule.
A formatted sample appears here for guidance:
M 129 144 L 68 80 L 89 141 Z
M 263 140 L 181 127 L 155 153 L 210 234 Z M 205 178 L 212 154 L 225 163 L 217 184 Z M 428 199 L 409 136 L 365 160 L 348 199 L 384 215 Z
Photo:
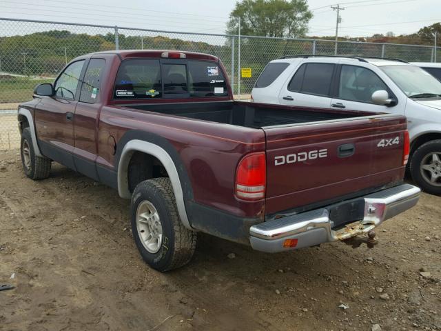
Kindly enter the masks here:
M 338 74 L 336 97 L 331 101 L 331 108 L 360 110 L 366 112 L 394 112 L 394 106 L 381 106 L 372 102 L 372 94 L 378 90 L 389 92 L 389 97 L 396 99 L 393 92 L 378 75 L 361 66 L 342 65 Z

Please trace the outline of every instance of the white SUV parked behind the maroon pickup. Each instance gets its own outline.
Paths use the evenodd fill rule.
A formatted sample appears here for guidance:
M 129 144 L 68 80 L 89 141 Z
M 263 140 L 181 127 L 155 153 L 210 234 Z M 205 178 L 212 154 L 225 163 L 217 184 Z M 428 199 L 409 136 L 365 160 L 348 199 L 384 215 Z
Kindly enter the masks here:
M 413 180 L 427 192 L 441 195 L 441 81 L 418 66 L 367 57 L 285 57 L 268 63 L 252 90 L 252 100 L 404 114 Z

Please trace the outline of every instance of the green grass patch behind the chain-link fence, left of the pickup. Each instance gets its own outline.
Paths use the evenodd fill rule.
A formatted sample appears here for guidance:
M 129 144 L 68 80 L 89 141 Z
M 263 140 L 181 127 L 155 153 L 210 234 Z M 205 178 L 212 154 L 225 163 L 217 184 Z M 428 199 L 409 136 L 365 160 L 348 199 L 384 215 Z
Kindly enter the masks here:
M 41 83 L 53 83 L 53 81 L 53 79 L 33 77 L 0 76 L 0 103 L 28 101 L 32 99 L 35 86 Z

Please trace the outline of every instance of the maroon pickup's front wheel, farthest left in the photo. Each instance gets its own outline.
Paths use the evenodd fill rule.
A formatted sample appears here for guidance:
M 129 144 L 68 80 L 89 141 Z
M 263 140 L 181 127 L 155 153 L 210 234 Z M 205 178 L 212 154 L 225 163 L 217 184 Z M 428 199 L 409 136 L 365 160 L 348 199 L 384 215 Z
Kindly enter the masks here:
M 37 157 L 35 155 L 30 128 L 24 128 L 21 132 L 20 154 L 21 165 L 23 165 L 27 177 L 34 180 L 49 177 L 52 161 L 47 157 Z

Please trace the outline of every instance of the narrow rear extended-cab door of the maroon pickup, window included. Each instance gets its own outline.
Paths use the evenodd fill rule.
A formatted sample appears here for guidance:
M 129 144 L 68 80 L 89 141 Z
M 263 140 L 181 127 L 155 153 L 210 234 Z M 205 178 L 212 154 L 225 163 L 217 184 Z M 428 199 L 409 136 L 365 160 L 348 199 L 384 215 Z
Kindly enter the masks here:
M 99 111 L 103 104 L 101 81 L 105 59 L 90 59 L 82 79 L 74 121 L 74 163 L 78 172 L 98 179 L 95 161 L 98 154 L 96 133 Z

